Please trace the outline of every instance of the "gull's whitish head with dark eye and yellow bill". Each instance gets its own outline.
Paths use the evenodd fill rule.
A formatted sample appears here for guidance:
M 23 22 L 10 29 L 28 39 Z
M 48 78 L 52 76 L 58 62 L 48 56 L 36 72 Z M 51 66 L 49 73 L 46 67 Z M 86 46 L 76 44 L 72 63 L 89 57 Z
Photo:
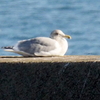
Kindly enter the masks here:
M 52 39 L 59 39 L 59 38 L 71 39 L 71 36 L 64 34 L 61 30 L 54 30 L 53 32 L 51 32 L 50 37 Z

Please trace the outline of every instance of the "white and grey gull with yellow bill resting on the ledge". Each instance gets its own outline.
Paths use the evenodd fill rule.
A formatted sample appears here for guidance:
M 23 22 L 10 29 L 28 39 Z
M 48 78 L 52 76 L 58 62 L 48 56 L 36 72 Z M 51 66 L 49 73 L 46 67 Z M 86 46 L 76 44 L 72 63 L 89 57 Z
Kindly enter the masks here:
M 18 41 L 15 46 L 2 47 L 5 51 L 14 52 L 22 56 L 63 56 L 68 50 L 68 42 L 61 30 L 54 30 L 50 37 L 36 37 Z

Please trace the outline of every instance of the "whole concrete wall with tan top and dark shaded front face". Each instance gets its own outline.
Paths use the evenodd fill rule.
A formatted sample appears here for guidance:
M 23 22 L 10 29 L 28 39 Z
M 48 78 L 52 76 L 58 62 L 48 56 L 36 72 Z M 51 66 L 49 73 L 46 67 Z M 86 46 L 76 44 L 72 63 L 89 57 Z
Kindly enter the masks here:
M 98 100 L 100 56 L 0 57 L 0 100 Z

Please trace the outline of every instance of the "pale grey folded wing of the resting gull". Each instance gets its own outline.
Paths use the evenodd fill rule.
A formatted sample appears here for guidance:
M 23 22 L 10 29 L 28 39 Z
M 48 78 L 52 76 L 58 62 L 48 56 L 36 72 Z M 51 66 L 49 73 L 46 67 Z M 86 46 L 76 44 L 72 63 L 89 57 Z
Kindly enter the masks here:
M 53 39 L 51 38 L 44 38 L 44 37 L 38 37 L 29 39 L 26 41 L 20 41 L 18 44 L 18 49 L 20 51 L 24 51 L 26 53 L 34 54 L 39 53 L 41 51 L 49 52 L 50 50 L 55 49 Z

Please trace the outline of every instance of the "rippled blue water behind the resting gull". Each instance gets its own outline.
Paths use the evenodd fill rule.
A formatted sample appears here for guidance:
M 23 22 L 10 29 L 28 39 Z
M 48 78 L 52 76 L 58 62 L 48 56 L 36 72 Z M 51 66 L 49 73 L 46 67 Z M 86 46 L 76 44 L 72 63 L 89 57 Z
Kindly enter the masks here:
M 66 55 L 100 55 L 100 0 L 0 1 L 0 47 L 55 29 L 72 36 Z

